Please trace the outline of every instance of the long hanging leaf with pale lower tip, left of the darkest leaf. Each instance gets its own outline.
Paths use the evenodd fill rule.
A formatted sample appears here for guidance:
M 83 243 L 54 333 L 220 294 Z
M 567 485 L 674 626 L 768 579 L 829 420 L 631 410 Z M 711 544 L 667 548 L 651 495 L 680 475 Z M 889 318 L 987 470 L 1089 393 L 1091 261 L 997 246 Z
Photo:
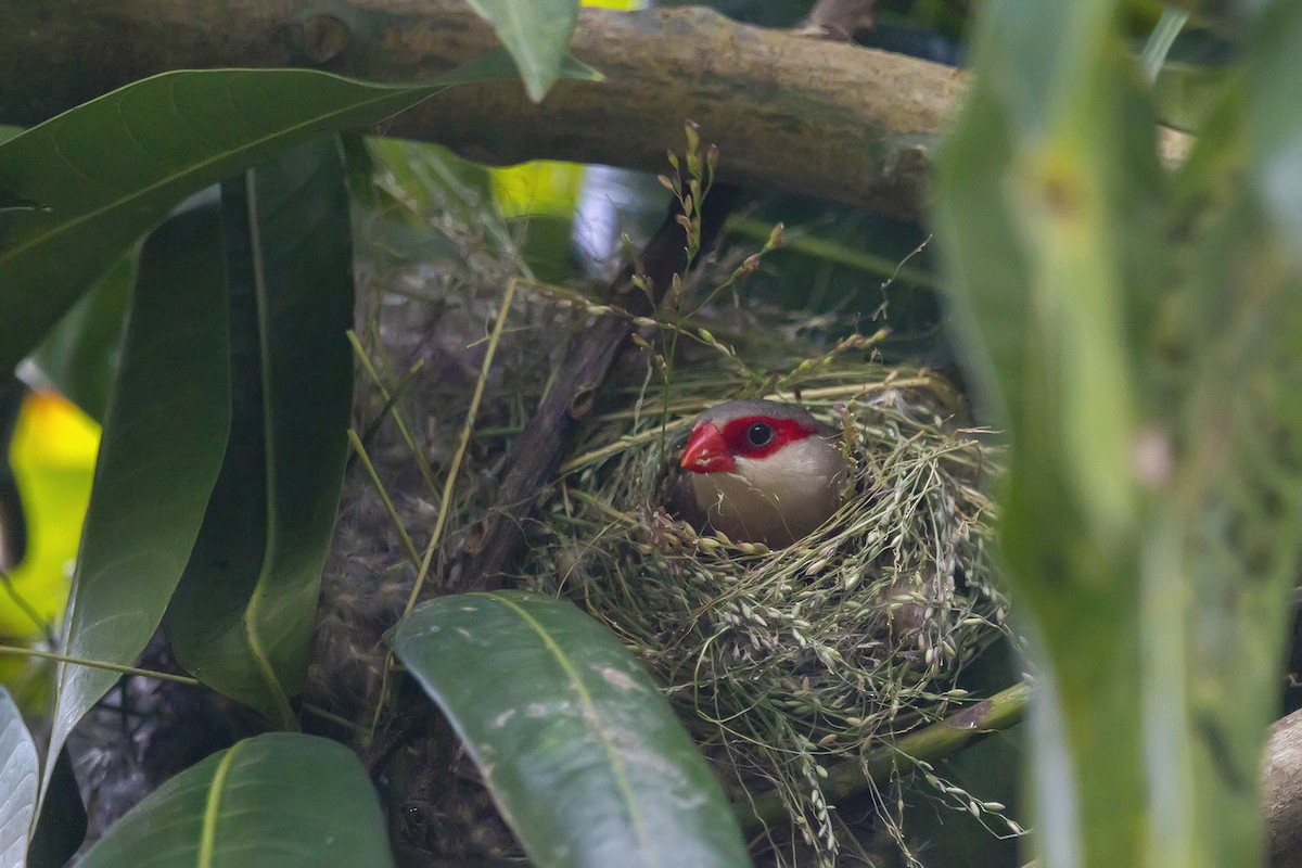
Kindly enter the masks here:
M 228 355 L 219 217 L 215 208 L 186 212 L 150 236 L 141 254 L 62 653 L 126 665 L 158 629 L 225 452 Z M 59 664 L 56 671 L 48 756 L 118 678 L 86 665 Z

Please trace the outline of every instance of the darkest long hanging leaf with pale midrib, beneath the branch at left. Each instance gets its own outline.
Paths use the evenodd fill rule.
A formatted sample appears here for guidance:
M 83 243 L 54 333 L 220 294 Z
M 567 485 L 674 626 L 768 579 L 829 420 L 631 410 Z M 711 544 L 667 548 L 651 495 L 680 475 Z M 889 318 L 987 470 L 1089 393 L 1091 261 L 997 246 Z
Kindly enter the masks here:
M 168 612 L 190 673 L 293 726 L 348 452 L 348 193 L 333 137 L 223 185 L 233 423 Z

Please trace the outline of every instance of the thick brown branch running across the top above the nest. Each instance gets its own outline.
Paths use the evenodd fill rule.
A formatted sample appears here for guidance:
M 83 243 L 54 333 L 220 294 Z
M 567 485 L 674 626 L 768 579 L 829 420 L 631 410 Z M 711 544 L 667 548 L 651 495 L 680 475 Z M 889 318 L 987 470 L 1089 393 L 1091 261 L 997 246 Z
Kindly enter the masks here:
M 418 81 L 492 47 L 461 0 L 83 0 L 9 3 L 0 122 L 30 125 L 168 69 L 318 66 Z M 534 157 L 663 170 L 682 124 L 723 152 L 720 180 L 917 217 L 930 150 L 961 75 L 898 55 L 764 30 L 704 9 L 585 9 L 573 53 L 605 81 L 448 91 L 392 135 L 474 159 Z

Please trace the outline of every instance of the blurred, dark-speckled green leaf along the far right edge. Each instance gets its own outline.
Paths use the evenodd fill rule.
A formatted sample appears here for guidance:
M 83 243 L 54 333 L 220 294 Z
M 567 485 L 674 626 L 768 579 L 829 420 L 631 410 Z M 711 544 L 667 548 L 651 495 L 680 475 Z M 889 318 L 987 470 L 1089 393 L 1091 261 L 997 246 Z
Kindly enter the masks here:
M 1302 204 L 1288 174 L 1302 124 L 1284 109 L 1302 86 L 1298 34 L 1302 8 L 1267 13 L 1178 180 L 1190 206 L 1168 337 L 1185 360 L 1172 375 L 1180 452 L 1142 574 L 1161 625 L 1147 636 L 1168 664 L 1146 703 L 1163 751 L 1150 785 L 1187 794 L 1161 824 L 1172 864 L 1260 863 L 1255 785 L 1302 544 Z

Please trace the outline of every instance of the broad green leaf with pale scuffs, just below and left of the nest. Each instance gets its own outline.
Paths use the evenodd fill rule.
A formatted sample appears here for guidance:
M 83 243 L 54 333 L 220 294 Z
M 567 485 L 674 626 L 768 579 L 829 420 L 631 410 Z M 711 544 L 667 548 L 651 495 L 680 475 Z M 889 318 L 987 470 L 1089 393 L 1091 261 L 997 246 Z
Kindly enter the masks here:
M 439 597 L 389 644 L 539 868 L 750 864 L 719 782 L 650 675 L 569 603 Z

